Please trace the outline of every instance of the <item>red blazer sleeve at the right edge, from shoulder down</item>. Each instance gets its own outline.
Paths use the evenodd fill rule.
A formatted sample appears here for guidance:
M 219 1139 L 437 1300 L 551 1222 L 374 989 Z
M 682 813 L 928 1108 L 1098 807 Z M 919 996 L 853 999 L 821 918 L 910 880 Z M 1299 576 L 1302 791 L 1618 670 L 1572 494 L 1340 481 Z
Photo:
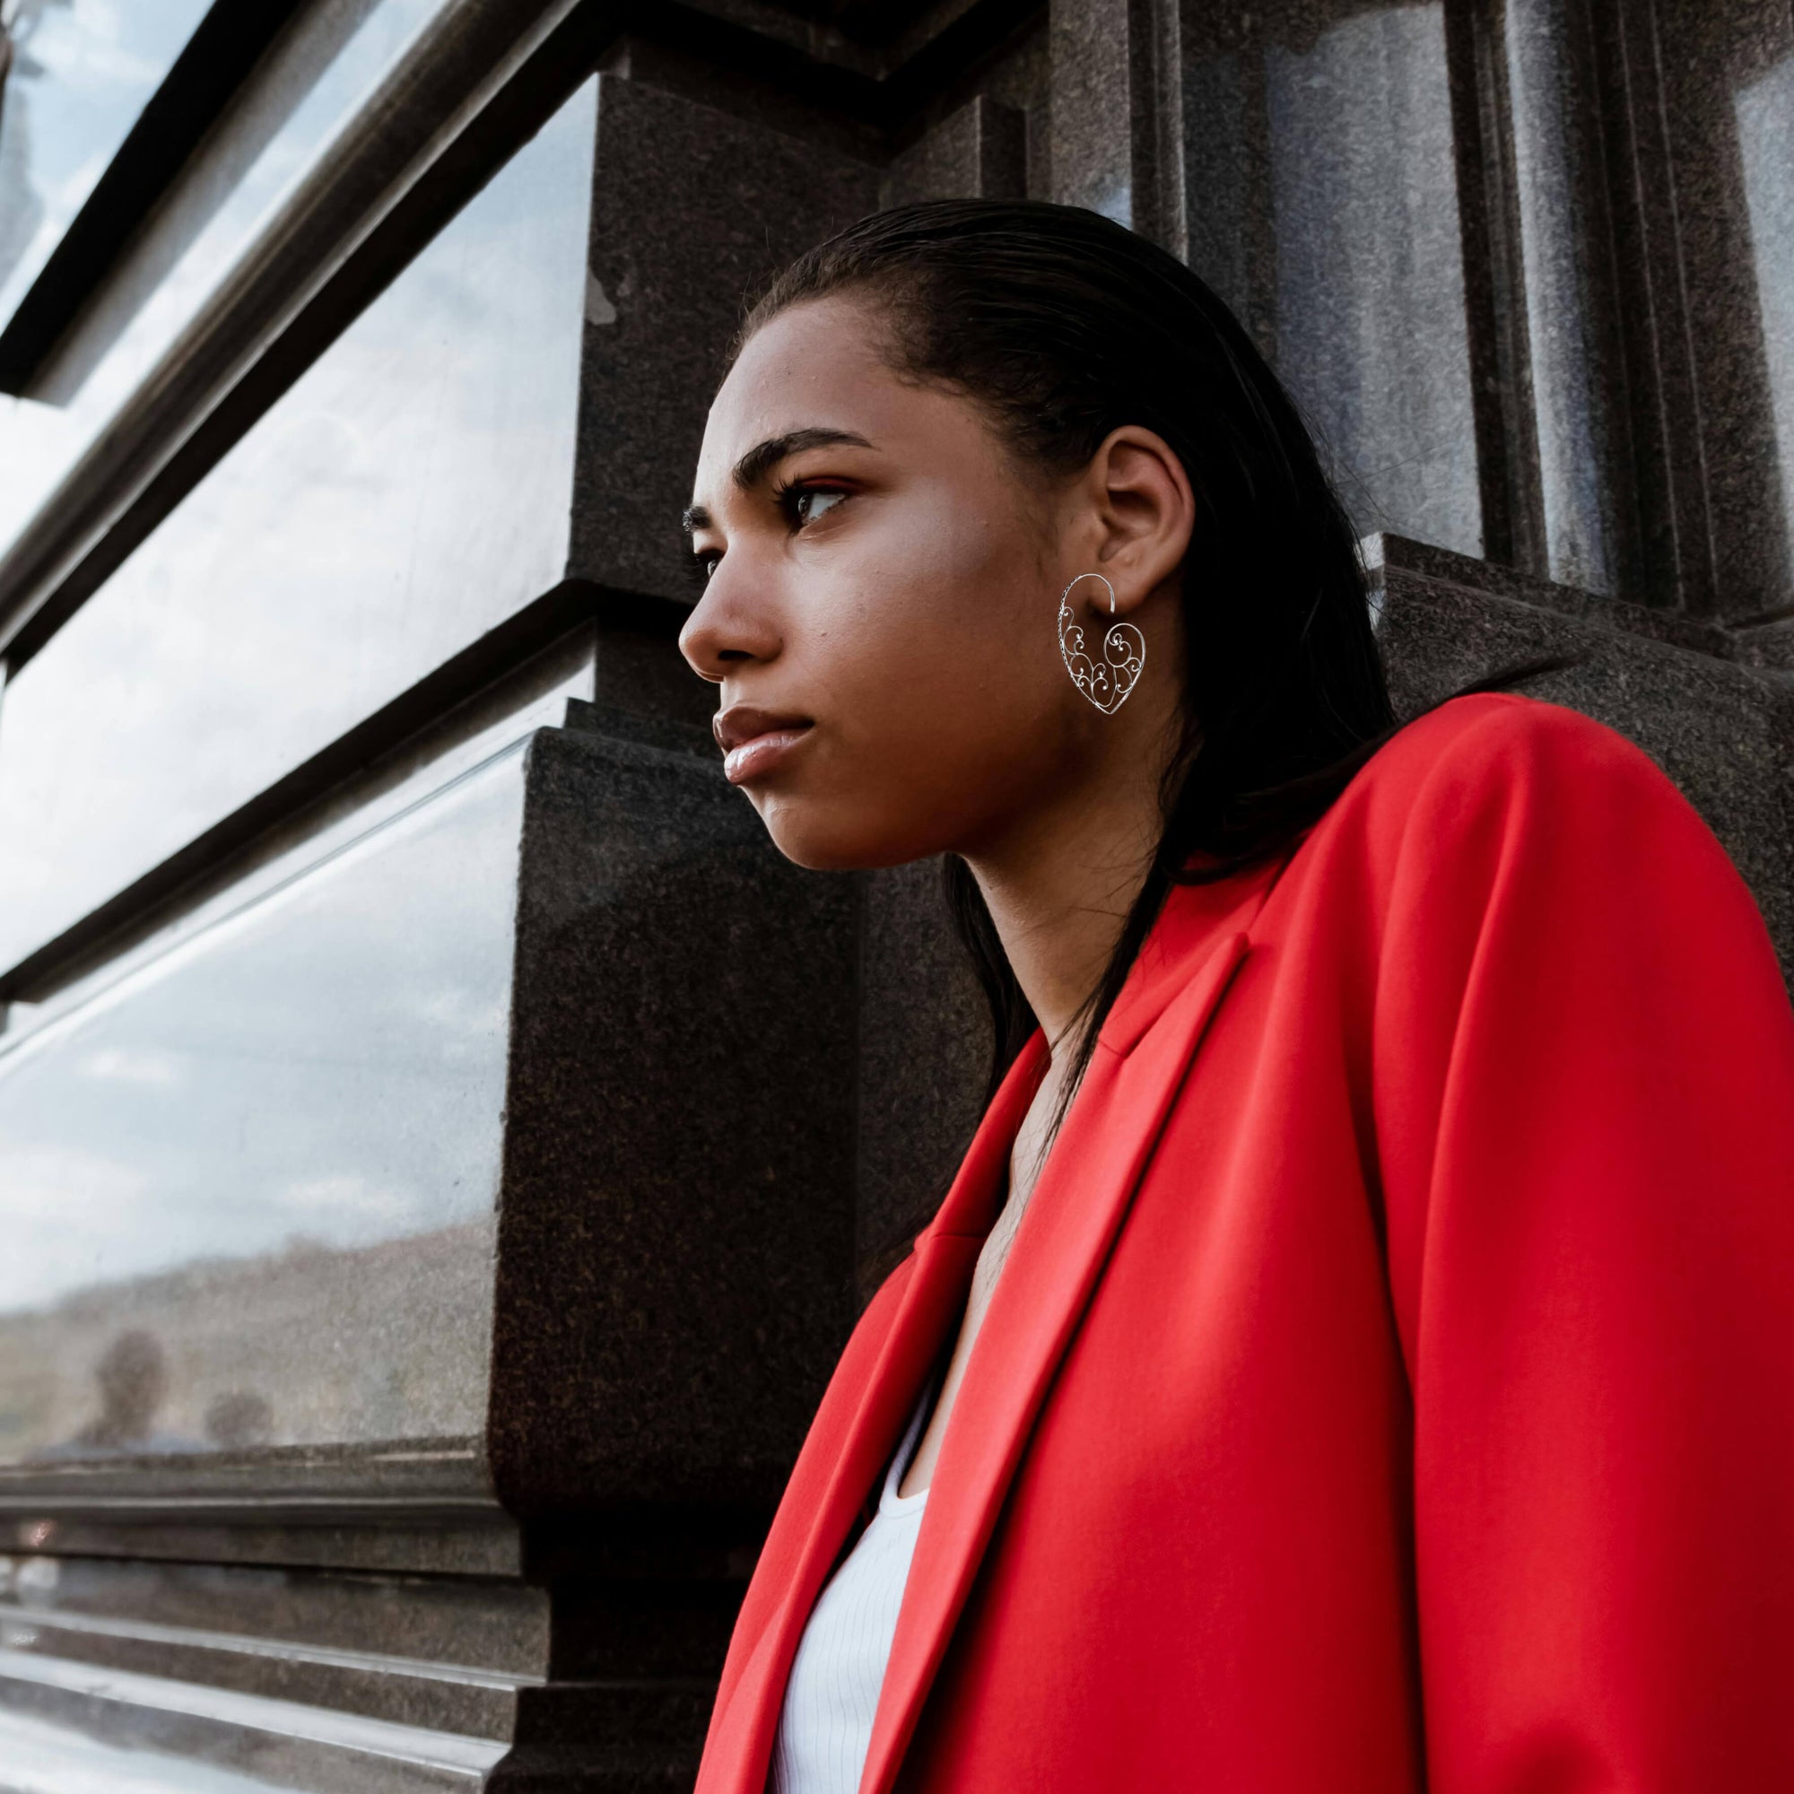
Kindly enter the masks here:
M 1432 1794 L 1794 1789 L 1794 1010 L 1701 816 L 1534 700 L 1399 818 L 1372 1109 Z

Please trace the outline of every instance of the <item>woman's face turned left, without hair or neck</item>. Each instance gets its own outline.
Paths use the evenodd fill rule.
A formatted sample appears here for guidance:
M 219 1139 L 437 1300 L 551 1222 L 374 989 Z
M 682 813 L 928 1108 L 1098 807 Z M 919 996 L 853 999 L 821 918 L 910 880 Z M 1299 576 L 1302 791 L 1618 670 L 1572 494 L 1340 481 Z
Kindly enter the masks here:
M 997 850 L 1163 727 L 1164 689 L 1175 709 L 1177 644 L 1137 592 L 1161 701 L 1143 680 L 1105 718 L 1066 675 L 1062 587 L 1121 572 L 1089 483 L 1024 481 L 971 402 L 897 379 L 879 344 L 847 298 L 766 323 L 710 407 L 687 513 L 709 574 L 680 648 L 719 685 L 727 775 L 806 867 Z M 1085 621 L 1107 605 L 1096 581 L 1073 599 Z

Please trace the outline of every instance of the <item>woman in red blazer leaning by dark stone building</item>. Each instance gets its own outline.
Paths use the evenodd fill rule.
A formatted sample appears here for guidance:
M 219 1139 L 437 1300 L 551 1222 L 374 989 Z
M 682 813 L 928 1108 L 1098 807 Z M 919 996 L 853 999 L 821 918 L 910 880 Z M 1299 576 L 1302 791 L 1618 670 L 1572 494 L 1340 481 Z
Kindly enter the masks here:
M 802 258 L 687 524 L 727 775 L 949 856 L 997 1060 L 700 1789 L 1794 1787 L 1794 1012 L 1676 788 L 1398 730 L 1288 398 L 1094 213 Z

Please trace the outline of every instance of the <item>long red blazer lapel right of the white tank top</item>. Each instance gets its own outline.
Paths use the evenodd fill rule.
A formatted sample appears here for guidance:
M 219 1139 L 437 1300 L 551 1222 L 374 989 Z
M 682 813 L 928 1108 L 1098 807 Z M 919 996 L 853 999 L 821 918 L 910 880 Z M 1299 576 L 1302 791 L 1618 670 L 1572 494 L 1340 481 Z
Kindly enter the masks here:
M 1247 899 L 1261 901 L 1256 884 Z M 1209 926 L 1216 915 L 1238 913 L 1240 892 L 1229 893 L 1225 908 L 1218 902 L 1211 893 L 1195 901 L 1197 910 L 1207 906 Z M 1164 920 L 1175 935 L 1193 917 L 1186 906 L 1173 906 Z M 947 1423 L 872 1724 L 861 1794 L 886 1794 L 895 1781 L 1041 1401 L 1096 1288 L 1189 1058 L 1245 954 L 1247 936 L 1234 931 L 1211 935 L 1206 949 L 1182 954 L 1175 980 L 1157 978 L 1152 962 L 1143 963 L 1134 990 L 1123 992 L 1132 1001 L 1118 1001 L 1116 1028 L 1105 1024 L 1100 1035 L 1084 1085 L 1041 1170 Z M 1012 1121 L 1005 1137 L 1012 1139 L 1014 1130 Z M 990 1218 L 983 1222 L 988 1229 Z M 956 1297 L 963 1302 L 965 1292 L 956 1290 Z M 806 1611 L 807 1593 L 806 1582 Z

